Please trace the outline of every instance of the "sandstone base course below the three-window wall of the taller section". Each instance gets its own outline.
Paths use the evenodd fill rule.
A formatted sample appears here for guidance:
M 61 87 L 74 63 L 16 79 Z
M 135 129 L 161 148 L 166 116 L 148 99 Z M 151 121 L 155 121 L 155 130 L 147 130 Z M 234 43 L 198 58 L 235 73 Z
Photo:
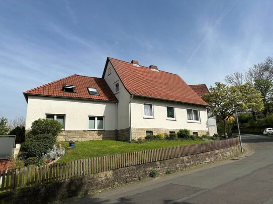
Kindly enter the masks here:
M 156 135 L 160 133 L 169 134 L 169 132 L 177 133 L 179 130 L 178 129 L 160 129 L 160 128 L 132 128 L 132 139 L 145 138 L 146 131 L 153 131 L 153 135 Z M 190 134 L 193 134 L 193 132 L 197 132 L 198 136 L 202 136 L 204 134 L 209 135 L 209 132 L 207 130 L 190 130 Z

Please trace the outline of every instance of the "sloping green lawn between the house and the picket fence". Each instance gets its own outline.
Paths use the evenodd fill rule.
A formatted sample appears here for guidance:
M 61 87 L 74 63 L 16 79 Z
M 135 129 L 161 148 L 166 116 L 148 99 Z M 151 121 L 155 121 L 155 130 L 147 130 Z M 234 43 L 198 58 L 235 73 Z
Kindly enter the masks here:
M 64 156 L 60 158 L 58 162 L 201 142 L 204 141 L 155 140 L 144 143 L 128 143 L 123 141 L 103 140 L 75 142 L 75 147 L 71 149 L 66 148 Z M 69 146 L 69 142 L 58 142 L 58 144 L 62 144 L 63 147 Z

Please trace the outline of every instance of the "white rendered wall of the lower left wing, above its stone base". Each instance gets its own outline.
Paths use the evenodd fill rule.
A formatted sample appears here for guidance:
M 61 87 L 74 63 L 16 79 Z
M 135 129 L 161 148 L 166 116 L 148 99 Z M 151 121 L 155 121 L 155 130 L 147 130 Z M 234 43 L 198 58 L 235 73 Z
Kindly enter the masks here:
M 87 130 L 89 116 L 104 117 L 104 129 L 115 130 L 115 102 L 28 96 L 26 129 L 46 114 L 65 115 L 65 130 Z

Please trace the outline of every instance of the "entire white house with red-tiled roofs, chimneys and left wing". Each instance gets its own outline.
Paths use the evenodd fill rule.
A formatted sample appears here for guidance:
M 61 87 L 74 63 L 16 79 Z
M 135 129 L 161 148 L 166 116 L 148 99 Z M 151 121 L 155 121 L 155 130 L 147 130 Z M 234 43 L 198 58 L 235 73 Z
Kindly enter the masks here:
M 187 128 L 209 134 L 208 104 L 178 75 L 107 58 L 102 78 L 72 75 L 24 92 L 26 129 L 58 120 L 59 141 L 131 140 Z

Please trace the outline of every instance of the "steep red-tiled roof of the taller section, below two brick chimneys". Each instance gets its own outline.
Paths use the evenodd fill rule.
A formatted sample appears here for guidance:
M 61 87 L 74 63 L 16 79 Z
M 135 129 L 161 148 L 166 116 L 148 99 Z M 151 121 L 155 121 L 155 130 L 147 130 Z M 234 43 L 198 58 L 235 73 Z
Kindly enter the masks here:
M 148 67 L 134 66 L 129 62 L 107 58 L 121 82 L 131 95 L 208 106 L 186 82 L 176 74 L 153 71 Z M 105 75 L 106 68 L 103 74 Z

